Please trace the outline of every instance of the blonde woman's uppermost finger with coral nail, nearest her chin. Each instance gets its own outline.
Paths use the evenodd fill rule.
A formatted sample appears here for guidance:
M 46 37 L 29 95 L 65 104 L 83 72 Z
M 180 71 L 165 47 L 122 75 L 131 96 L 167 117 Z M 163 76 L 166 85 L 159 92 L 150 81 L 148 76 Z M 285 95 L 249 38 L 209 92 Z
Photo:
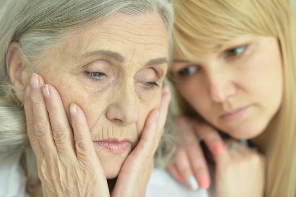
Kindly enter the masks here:
M 211 126 L 196 122 L 194 131 L 206 144 L 210 152 L 213 154 L 216 163 L 224 163 L 230 159 L 229 152 L 225 148 L 222 137 L 218 131 Z

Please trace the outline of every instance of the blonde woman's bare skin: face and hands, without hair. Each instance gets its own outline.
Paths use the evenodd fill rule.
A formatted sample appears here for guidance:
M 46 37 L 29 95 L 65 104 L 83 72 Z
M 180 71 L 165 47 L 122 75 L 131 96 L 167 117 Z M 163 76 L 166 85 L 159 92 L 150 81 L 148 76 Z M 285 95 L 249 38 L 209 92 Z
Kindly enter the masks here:
M 262 197 L 265 158 L 239 142 L 223 140 L 216 129 L 234 139 L 256 138 L 255 145 L 265 143 L 269 136 L 267 125 L 276 116 L 283 94 L 278 40 L 246 35 L 230 40 L 222 48 L 204 47 L 210 52 L 196 53 L 194 61 L 175 50 L 172 76 L 176 87 L 206 122 L 177 118 L 182 143 L 167 169 L 191 189 L 196 188 L 189 184 L 190 176 L 200 188 L 209 188 L 208 164 L 199 142 L 202 140 L 208 149 L 207 158 L 216 166 L 217 196 Z M 242 116 L 223 118 L 223 114 L 246 106 Z M 237 144 L 235 151 L 229 148 L 232 143 Z

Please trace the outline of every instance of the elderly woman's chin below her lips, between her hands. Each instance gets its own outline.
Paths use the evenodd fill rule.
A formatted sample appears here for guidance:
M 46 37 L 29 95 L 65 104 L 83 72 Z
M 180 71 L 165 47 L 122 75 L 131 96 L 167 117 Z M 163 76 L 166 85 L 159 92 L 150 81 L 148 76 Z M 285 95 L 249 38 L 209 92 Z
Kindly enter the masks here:
M 95 145 L 97 156 L 102 164 L 107 179 L 113 179 L 118 176 L 120 168 L 124 160 L 128 157 L 131 152 L 131 146 L 123 147 L 121 150 L 109 150 L 102 148 L 101 146 Z M 125 148 L 125 149 L 124 149 Z M 112 149 L 112 148 L 111 148 Z

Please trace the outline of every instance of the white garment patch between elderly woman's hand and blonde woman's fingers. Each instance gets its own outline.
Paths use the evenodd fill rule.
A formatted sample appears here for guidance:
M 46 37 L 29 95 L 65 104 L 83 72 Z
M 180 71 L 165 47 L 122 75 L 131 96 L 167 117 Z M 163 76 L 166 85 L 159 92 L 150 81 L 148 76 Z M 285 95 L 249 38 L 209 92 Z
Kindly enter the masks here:
M 208 190 L 190 191 L 162 169 L 154 169 L 148 182 L 146 197 L 213 197 Z

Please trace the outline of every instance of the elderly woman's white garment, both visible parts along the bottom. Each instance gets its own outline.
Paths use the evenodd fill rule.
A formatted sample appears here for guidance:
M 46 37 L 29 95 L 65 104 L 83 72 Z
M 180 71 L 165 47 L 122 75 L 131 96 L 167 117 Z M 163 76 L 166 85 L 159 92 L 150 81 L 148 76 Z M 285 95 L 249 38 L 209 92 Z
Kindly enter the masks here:
M 0 166 L 0 197 L 26 197 L 26 177 L 19 158 Z M 165 170 L 154 169 L 146 197 L 213 197 L 207 190 L 190 191 L 175 181 Z

